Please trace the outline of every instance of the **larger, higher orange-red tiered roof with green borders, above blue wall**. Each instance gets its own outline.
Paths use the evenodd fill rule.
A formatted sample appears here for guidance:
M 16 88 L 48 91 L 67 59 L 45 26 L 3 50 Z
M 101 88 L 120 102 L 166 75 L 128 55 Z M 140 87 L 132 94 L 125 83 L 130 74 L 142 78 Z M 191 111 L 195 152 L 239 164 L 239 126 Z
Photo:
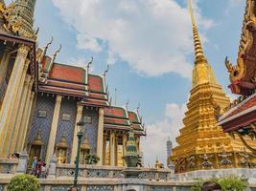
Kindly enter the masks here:
M 56 55 L 51 58 L 44 54 L 39 59 L 38 92 L 74 96 L 86 105 L 109 105 L 103 76 L 88 74 L 81 67 L 59 64 L 55 62 Z

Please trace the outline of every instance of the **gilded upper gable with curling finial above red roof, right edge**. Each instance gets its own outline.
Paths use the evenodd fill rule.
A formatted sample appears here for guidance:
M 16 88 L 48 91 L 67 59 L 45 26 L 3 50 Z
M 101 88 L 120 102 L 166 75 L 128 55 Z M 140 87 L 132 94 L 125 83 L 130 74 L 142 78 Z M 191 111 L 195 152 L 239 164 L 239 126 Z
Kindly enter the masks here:
M 226 58 L 225 65 L 230 74 L 232 93 L 248 96 L 256 89 L 256 2 L 246 0 L 244 22 L 237 58 L 232 65 Z

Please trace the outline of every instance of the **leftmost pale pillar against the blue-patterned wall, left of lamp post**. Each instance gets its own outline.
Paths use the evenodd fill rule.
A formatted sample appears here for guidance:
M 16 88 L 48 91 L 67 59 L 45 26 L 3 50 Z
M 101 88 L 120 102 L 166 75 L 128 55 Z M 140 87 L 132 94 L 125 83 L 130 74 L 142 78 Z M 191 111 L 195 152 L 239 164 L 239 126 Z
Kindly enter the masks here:
M 55 111 L 54 111 L 50 136 L 49 136 L 48 145 L 47 145 L 46 159 L 45 159 L 47 165 L 49 165 L 50 159 L 54 155 L 61 99 L 62 99 L 62 96 L 56 96 Z

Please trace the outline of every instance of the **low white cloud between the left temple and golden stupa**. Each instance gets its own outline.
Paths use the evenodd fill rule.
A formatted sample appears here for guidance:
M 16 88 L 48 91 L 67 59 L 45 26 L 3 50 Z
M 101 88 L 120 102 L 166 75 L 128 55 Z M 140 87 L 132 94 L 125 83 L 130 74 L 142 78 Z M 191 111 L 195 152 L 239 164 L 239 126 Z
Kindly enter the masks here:
M 155 122 L 147 126 L 147 138 L 142 140 L 145 165 L 154 164 L 156 157 L 166 164 L 167 149 L 166 141 L 170 137 L 175 143 L 175 138 L 179 135 L 179 129 L 182 128 L 185 111 L 185 104 L 175 103 L 167 104 L 165 109 L 165 118 L 162 121 Z

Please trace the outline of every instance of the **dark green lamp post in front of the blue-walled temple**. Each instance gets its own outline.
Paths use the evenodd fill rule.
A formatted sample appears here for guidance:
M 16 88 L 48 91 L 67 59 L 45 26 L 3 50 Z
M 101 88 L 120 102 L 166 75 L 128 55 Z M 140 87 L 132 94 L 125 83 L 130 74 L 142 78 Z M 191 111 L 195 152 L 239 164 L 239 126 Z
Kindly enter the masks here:
M 83 136 L 83 132 L 82 132 L 82 129 L 83 129 L 83 126 L 84 126 L 84 121 L 79 121 L 77 123 L 77 126 L 78 126 L 78 134 L 77 134 L 77 137 L 78 137 L 78 151 L 77 151 L 77 157 L 76 157 L 76 169 L 75 169 L 75 177 L 74 177 L 74 187 L 77 187 L 78 185 L 78 176 L 79 176 L 79 165 L 80 165 L 80 149 L 81 149 L 81 138 Z

